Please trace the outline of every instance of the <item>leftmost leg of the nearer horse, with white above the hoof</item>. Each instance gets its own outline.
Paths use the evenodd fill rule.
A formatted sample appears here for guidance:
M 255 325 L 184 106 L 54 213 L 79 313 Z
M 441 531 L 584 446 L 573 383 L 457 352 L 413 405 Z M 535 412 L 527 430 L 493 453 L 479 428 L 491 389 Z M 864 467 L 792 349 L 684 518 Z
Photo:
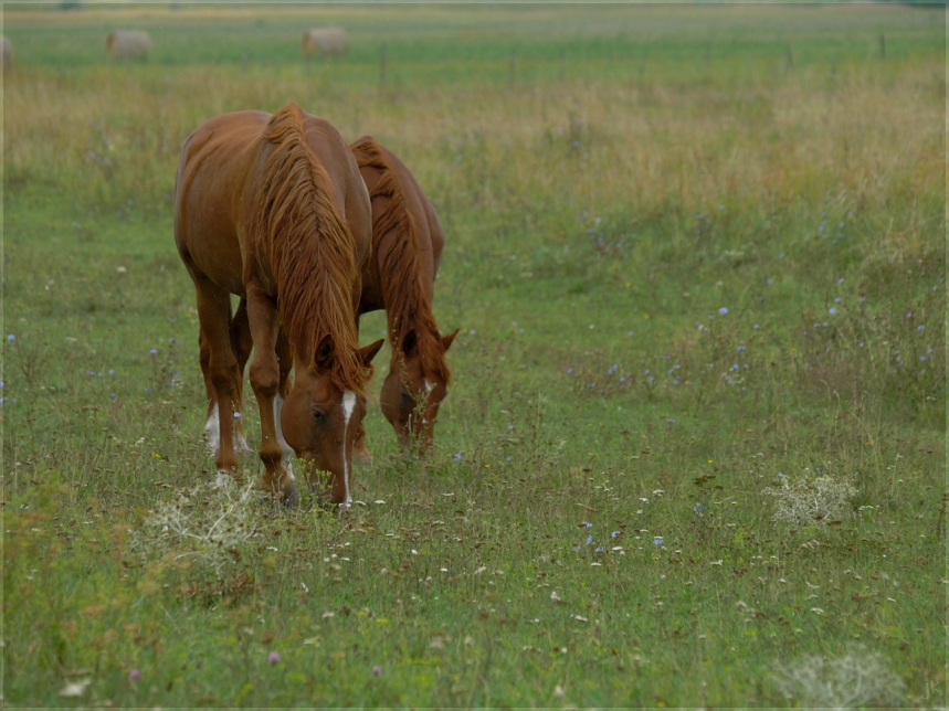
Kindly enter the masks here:
M 240 416 L 240 412 L 235 410 L 234 402 L 235 397 L 240 397 L 241 372 L 231 348 L 231 297 L 225 289 L 200 276 L 194 278 L 194 290 L 201 321 L 201 368 L 209 394 L 210 416 L 205 431 L 209 432 L 209 444 L 215 455 L 218 481 L 223 484 L 228 475 L 238 470 L 234 420 Z

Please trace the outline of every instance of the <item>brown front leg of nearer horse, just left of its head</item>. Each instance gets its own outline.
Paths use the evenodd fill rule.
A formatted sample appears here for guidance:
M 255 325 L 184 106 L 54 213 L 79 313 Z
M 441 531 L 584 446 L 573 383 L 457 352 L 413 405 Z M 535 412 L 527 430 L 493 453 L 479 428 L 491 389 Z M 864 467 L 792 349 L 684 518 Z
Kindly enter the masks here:
M 278 361 L 280 320 L 274 299 L 255 284 L 247 285 L 247 318 L 254 343 L 251 388 L 254 389 L 261 412 L 261 460 L 264 463 L 261 487 L 272 494 L 283 495 L 287 503 L 293 503 L 297 496 L 292 465 L 293 449 L 281 432 L 281 361 L 285 353 L 281 352 Z M 284 351 L 284 348 L 281 342 L 280 350 Z

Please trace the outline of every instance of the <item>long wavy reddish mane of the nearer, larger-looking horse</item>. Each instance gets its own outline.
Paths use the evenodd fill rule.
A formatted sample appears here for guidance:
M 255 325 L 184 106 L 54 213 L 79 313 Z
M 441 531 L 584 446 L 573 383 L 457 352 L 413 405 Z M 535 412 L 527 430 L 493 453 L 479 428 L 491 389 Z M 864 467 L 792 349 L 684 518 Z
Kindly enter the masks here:
M 273 115 L 273 144 L 251 213 L 277 283 L 282 326 L 307 367 L 325 337 L 333 340 L 334 384 L 362 393 L 371 374 L 358 354 L 352 305 L 356 241 L 333 202 L 329 174 L 306 141 L 304 116 L 289 104 Z

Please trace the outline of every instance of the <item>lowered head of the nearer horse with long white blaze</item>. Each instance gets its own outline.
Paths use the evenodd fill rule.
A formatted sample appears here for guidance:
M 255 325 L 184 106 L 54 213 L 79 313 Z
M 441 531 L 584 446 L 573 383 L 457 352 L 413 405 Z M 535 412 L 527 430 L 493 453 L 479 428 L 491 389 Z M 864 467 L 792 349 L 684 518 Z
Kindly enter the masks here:
M 368 368 L 382 341 L 359 349 L 358 357 Z M 320 489 L 319 474 L 327 471 L 329 500 L 349 508 L 352 500 L 352 455 L 365 452 L 362 418 L 366 396 L 339 388 L 333 380 L 333 344 L 323 343 L 314 365 L 297 373 L 281 413 L 281 427 L 287 444 L 303 459 L 310 491 Z

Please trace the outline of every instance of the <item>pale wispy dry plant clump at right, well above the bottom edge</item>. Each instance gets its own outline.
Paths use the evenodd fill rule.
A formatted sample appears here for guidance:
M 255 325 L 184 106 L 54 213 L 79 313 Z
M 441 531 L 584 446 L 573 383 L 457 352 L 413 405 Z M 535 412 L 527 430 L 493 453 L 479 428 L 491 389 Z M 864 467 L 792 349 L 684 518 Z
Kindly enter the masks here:
M 776 521 L 793 528 L 825 527 L 853 516 L 851 500 L 856 496 L 856 487 L 831 476 L 802 478 L 793 484 L 782 478 L 768 494 L 774 497 Z

